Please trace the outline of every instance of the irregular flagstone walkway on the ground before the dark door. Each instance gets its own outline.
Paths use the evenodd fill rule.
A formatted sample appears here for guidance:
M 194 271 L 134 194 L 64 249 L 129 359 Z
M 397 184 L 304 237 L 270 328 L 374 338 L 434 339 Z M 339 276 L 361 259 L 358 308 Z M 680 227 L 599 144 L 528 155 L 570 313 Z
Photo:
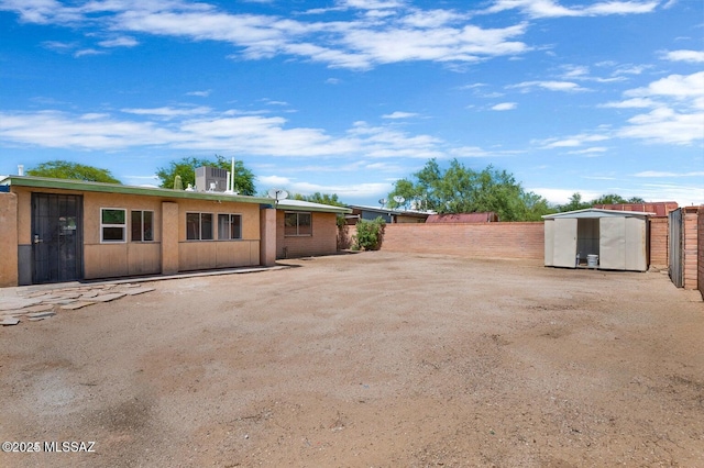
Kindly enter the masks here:
M 130 282 L 18 290 L 15 296 L 0 296 L 0 325 L 16 325 L 23 321 L 36 322 L 56 315 L 62 310 L 81 309 L 153 290 L 154 288 Z

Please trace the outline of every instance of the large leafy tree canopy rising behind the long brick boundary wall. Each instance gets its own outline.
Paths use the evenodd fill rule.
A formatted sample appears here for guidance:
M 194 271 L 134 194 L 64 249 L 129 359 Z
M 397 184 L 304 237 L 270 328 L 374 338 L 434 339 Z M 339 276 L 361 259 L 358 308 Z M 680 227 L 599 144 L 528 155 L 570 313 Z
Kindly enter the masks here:
M 397 202 L 397 196 L 404 201 Z M 430 159 L 411 178 L 397 180 L 388 199 L 391 208 L 413 203 L 438 213 L 493 211 L 502 221 L 539 221 L 541 215 L 554 212 L 544 198 L 526 192 L 505 170 L 488 166 L 475 171 L 457 159 L 448 169 Z

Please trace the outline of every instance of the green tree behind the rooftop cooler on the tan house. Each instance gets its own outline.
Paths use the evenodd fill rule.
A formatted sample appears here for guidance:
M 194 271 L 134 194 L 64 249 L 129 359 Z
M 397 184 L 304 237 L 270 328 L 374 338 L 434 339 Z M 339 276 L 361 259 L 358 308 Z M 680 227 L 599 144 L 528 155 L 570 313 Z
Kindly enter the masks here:
M 160 187 L 173 188 L 176 176 L 180 176 L 183 186 L 188 187 L 188 183 L 196 186 L 196 168 L 200 166 L 217 167 L 220 169 L 232 170 L 232 164 L 223 156 L 216 155 L 215 159 L 185 157 L 179 160 L 173 160 L 167 167 L 160 167 L 156 170 L 156 177 L 162 181 Z M 253 196 L 254 190 L 254 174 L 246 167 L 241 160 L 234 161 L 234 189 L 241 194 Z

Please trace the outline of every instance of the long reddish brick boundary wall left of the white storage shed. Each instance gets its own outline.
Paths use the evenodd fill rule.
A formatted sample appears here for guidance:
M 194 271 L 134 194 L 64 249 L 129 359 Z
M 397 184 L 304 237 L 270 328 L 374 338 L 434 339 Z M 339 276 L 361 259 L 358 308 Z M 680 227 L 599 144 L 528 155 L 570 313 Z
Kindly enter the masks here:
M 387 224 L 382 250 L 542 260 L 543 245 L 542 222 Z

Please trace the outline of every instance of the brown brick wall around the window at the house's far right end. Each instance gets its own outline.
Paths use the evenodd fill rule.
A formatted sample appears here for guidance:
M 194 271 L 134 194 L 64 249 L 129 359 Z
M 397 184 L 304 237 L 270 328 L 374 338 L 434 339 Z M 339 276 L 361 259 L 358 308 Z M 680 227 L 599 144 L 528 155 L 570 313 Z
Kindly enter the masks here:
M 312 213 L 312 235 L 284 236 L 284 212 L 276 212 L 276 258 L 331 255 L 338 252 L 334 213 Z

